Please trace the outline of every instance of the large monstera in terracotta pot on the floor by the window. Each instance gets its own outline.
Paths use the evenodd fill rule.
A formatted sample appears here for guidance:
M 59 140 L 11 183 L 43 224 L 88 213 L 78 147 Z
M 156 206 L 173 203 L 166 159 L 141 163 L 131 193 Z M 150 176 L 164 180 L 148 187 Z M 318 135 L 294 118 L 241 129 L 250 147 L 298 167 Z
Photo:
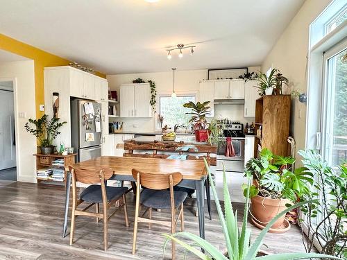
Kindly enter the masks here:
M 260 158 L 250 159 L 246 163 L 245 175 L 253 177 L 251 185 L 252 221 L 257 227 L 263 228 L 280 211 L 286 209 L 290 202 L 296 202 L 298 198 L 310 193 L 313 184 L 312 173 L 306 168 L 297 168 L 290 171 L 289 165 L 294 164 L 293 157 L 273 155 L 270 150 L 264 148 Z M 244 186 L 246 195 L 247 187 Z M 285 232 L 289 229 L 289 223 L 284 224 L 285 216 L 278 218 L 271 227 L 272 232 Z

